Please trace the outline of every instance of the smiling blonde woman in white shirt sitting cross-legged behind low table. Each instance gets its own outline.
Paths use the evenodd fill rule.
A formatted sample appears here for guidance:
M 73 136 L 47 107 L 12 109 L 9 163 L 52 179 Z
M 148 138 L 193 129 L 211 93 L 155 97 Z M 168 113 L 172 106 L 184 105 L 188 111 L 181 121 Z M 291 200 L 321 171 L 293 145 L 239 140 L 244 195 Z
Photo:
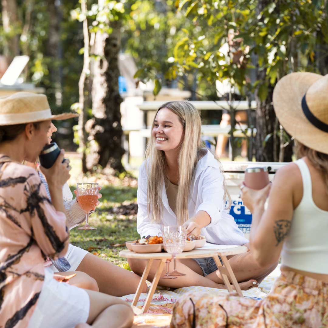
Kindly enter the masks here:
M 248 243 L 229 215 L 230 201 L 220 162 L 201 145 L 201 120 L 187 101 L 162 105 L 155 116 L 146 161 L 138 178 L 137 230 L 140 236 L 158 235 L 163 226 L 183 225 L 188 234 L 204 235 L 208 242 L 225 245 Z M 275 265 L 259 266 L 252 253 L 229 259 L 240 287 L 257 286 Z M 129 259 L 133 272 L 141 275 L 146 261 Z M 160 279 L 174 288 L 205 286 L 225 288 L 213 258 L 177 261 L 186 276 Z M 149 277 L 154 276 L 151 270 Z

